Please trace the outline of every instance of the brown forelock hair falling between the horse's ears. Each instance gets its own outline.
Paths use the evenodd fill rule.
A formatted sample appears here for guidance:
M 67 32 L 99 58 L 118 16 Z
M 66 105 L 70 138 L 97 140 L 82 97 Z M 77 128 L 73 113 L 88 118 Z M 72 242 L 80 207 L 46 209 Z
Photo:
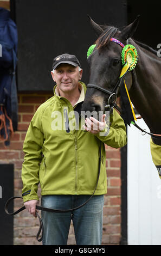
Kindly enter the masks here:
M 117 33 L 118 28 L 115 27 L 107 27 L 102 33 L 99 38 L 96 40 L 96 48 L 100 49 L 102 47 L 105 47 L 109 42 L 110 39 L 114 37 L 114 35 Z

